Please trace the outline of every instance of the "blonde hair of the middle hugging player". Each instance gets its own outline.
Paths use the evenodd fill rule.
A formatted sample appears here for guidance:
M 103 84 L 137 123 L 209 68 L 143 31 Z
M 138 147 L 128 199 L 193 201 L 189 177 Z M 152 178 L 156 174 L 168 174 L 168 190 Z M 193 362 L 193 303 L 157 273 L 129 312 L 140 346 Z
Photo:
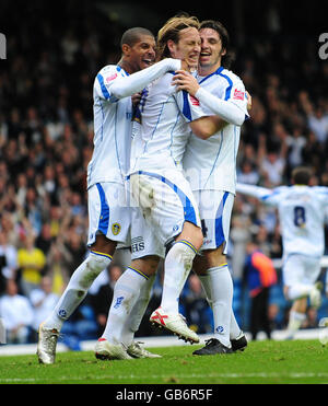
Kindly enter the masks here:
M 169 49 L 167 42 L 172 39 L 175 44 L 179 40 L 179 33 L 185 28 L 197 28 L 199 30 L 200 23 L 197 16 L 190 16 L 186 13 L 177 14 L 163 25 L 157 34 L 157 59 L 168 58 Z

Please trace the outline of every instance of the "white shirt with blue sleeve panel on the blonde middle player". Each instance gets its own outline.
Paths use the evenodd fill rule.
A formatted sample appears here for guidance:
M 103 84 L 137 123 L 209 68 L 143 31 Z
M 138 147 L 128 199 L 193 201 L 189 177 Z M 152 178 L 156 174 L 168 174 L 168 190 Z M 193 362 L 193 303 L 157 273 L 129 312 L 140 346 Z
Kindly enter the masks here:
M 147 170 L 167 175 L 181 169 L 181 159 L 191 134 L 188 123 L 204 116 L 199 102 L 172 85 L 174 72 L 151 83 L 140 103 L 138 142 L 132 151 L 131 173 Z M 136 132 L 136 128 L 134 128 Z M 137 139 L 136 139 L 137 141 Z

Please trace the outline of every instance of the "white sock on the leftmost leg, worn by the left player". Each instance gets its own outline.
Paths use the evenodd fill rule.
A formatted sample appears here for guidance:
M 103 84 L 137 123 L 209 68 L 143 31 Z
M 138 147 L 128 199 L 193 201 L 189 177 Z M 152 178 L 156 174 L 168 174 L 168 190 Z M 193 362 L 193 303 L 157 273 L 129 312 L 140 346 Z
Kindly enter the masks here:
M 44 327 L 56 328 L 60 332 L 63 322 L 83 301 L 92 282 L 108 267 L 110 262 L 110 255 L 91 251 L 87 258 L 74 270 L 56 308 L 45 321 Z

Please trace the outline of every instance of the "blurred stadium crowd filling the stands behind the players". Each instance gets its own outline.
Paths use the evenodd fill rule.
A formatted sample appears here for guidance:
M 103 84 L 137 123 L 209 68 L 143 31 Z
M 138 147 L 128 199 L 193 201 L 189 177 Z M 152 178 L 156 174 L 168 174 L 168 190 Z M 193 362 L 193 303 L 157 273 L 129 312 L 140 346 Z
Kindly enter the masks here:
M 8 60 L 0 61 L 0 317 L 10 321 L 13 343 L 35 340 L 38 323 L 87 254 L 93 81 L 103 66 L 119 59 L 118 38 L 126 28 L 117 21 L 109 24 L 95 9 L 84 19 L 77 10 L 65 12 L 60 28 L 49 13 L 42 21 L 33 12 L 20 20 L 14 35 L 8 35 Z M 233 69 L 253 96 L 251 119 L 242 128 L 239 182 L 288 184 L 293 167 L 306 164 L 314 170 L 314 184 L 328 186 L 328 97 L 323 86 L 328 63 L 318 58 L 316 42 L 303 38 L 298 47 L 294 39 L 268 33 L 235 49 Z M 243 276 L 253 235 L 266 255 L 281 258 L 276 211 L 237 196 L 230 259 L 234 310 L 246 330 L 249 300 Z M 121 271 L 120 264 L 112 265 L 66 323 L 62 333 L 71 348 L 78 349 L 80 339 L 97 338 Z M 155 309 L 160 276 L 153 293 L 150 308 Z M 288 310 L 278 269 L 269 306 L 273 328 L 285 326 Z M 194 275 L 183 292 L 181 312 L 199 333 L 212 330 L 211 311 Z M 147 316 L 140 336 L 157 334 Z M 317 320 L 309 313 L 304 327 Z

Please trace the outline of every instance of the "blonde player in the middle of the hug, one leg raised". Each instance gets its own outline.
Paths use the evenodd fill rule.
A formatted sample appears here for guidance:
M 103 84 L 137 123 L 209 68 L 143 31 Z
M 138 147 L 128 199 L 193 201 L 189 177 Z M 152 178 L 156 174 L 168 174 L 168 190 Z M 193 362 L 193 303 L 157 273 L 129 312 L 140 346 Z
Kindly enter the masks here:
M 195 69 L 200 51 L 198 27 L 196 18 L 179 15 L 169 19 L 159 32 L 159 59 L 181 59 L 185 69 Z M 142 209 L 152 230 L 153 241 L 161 247 L 167 246 L 168 251 L 164 262 L 162 303 L 152 314 L 151 322 L 164 326 L 185 340 L 198 343 L 198 336 L 188 328 L 178 313 L 180 291 L 189 275 L 192 258 L 202 243 L 197 205 L 183 175 L 180 162 L 190 134 L 189 126 L 195 131 L 200 131 L 204 115 L 187 93 L 176 92 L 175 86 L 171 85 L 173 73 L 166 73 L 142 92 L 138 130 L 133 139 L 138 152 L 132 147 L 129 181 L 132 198 Z M 213 121 L 203 128 L 210 130 Z M 138 241 L 148 245 L 144 235 L 140 235 Z M 133 254 L 138 258 L 138 252 Z M 151 278 L 153 274 L 154 269 L 152 272 L 144 272 L 144 276 Z M 145 280 L 143 285 L 147 286 Z M 139 292 L 129 283 L 125 294 L 115 289 L 115 304 L 110 308 L 107 322 L 108 332 L 116 328 L 116 316 L 125 306 L 125 301 L 134 303 L 139 309 L 133 310 L 136 330 L 148 304 L 147 300 L 139 299 Z M 140 305 L 140 302 L 143 304 Z M 126 314 L 126 320 L 128 316 Z M 120 323 L 125 324 L 122 318 Z M 110 345 L 113 339 L 110 341 L 109 336 L 108 339 Z M 124 340 L 125 337 L 121 336 L 120 339 Z

